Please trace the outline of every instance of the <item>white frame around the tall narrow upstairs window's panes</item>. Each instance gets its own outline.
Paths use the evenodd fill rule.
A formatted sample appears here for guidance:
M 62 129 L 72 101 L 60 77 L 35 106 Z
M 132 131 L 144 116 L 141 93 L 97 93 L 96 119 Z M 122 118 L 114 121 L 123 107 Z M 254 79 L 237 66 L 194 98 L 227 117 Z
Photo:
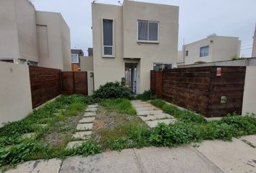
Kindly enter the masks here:
M 103 25 L 103 20 L 106 19 L 106 20 L 112 20 L 113 23 L 112 23 L 112 32 L 113 32 L 113 37 L 112 37 L 112 41 L 113 41 L 113 44 L 112 45 L 104 45 L 104 25 Z M 109 19 L 109 18 L 102 18 L 101 19 L 101 54 L 102 54 L 102 57 L 103 58 L 115 58 L 115 20 L 114 19 Z M 105 47 L 108 47 L 108 48 L 112 48 L 112 55 L 105 55 L 105 50 L 104 48 Z

